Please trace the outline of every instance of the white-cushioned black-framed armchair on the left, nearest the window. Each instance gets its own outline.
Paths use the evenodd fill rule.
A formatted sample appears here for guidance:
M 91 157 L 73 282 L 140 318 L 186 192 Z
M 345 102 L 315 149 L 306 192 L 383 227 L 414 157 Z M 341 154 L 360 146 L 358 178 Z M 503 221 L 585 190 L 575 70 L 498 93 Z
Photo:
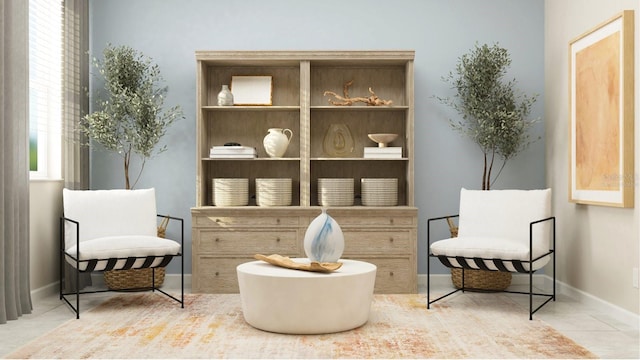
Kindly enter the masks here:
M 151 289 L 167 295 L 184 307 L 183 219 L 158 215 L 154 189 L 69 190 L 63 189 L 64 215 L 60 219 L 60 299 L 80 317 L 80 294 L 109 290 L 65 292 L 64 263 L 81 272 L 151 268 Z M 157 217 L 181 224 L 180 243 L 157 236 Z M 155 268 L 181 259 L 181 295 L 176 298 L 155 284 Z M 122 289 L 120 289 L 122 290 Z M 143 289 L 126 289 L 143 290 Z M 75 305 L 67 296 L 75 295 Z

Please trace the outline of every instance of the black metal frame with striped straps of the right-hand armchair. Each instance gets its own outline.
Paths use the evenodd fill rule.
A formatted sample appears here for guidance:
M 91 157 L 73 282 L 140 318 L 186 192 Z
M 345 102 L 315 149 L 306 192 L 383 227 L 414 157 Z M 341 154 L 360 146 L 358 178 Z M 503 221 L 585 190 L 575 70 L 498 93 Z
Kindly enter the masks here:
M 464 283 L 464 271 L 465 269 L 477 269 L 477 267 L 471 267 L 469 265 L 469 263 L 474 264 L 478 267 L 480 267 L 481 270 L 487 270 L 487 271 L 507 271 L 507 272 L 511 272 L 509 271 L 506 267 L 504 267 L 504 265 L 499 265 L 501 264 L 501 262 L 512 262 L 514 264 L 514 267 L 518 270 L 518 273 L 527 273 L 529 274 L 529 291 L 525 292 L 525 291 L 513 291 L 513 290 L 501 290 L 500 292 L 505 292 L 505 293 L 513 293 L 513 294 L 525 294 L 525 295 L 529 295 L 529 320 L 533 320 L 533 314 L 540 310 L 540 308 L 542 308 L 544 305 L 546 305 L 549 301 L 556 301 L 556 256 L 555 256 L 555 252 L 556 252 L 556 218 L 555 216 L 551 216 L 545 219 L 540 219 L 540 220 L 536 220 L 536 221 L 532 221 L 529 223 L 529 260 L 528 261 L 522 261 L 522 260 L 506 260 L 506 259 L 483 259 L 483 258 L 466 258 L 466 257 L 456 257 L 456 260 L 458 261 L 458 263 L 461 266 L 453 266 L 453 264 L 451 264 L 448 260 L 446 260 L 447 256 L 438 256 L 438 255 L 433 255 L 433 253 L 431 252 L 431 223 L 433 221 L 437 221 L 437 220 L 446 220 L 447 218 L 457 218 L 459 217 L 459 214 L 456 215 L 448 215 L 448 216 L 440 216 L 440 217 L 435 217 L 435 218 L 430 218 L 427 220 L 427 251 L 429 253 L 429 256 L 427 257 L 427 309 L 431 308 L 431 304 L 435 303 L 438 300 L 444 299 L 450 295 L 453 295 L 459 291 L 461 292 L 465 292 L 465 291 L 486 291 L 486 290 L 482 290 L 482 289 L 475 289 L 475 288 L 471 288 L 471 287 L 466 287 L 465 283 Z M 535 259 L 533 258 L 533 229 L 534 229 L 534 225 L 536 224 L 540 224 L 543 222 L 547 222 L 547 221 L 551 221 L 552 223 L 552 243 L 553 243 L 553 248 L 549 250 L 549 252 L 536 257 Z M 535 273 L 537 270 L 533 270 L 533 271 L 528 271 L 524 268 L 524 266 L 522 266 L 523 264 L 529 265 L 529 269 L 533 268 L 533 263 L 545 256 L 551 256 L 553 259 L 553 292 L 552 293 L 536 293 L 533 292 L 533 273 Z M 440 296 L 439 298 L 435 299 L 435 300 L 431 300 L 431 266 L 430 266 L 430 258 L 437 258 L 440 260 L 440 262 L 450 268 L 460 268 L 462 269 L 462 286 L 459 289 L 453 290 L 445 295 Z M 486 267 L 486 265 L 484 265 L 484 261 L 485 260 L 489 260 L 489 261 L 493 261 L 496 264 L 496 267 L 498 269 L 501 270 L 492 270 Z M 482 265 L 481 265 L 482 264 Z M 516 266 L 516 264 L 519 264 Z M 536 307 L 535 309 L 533 308 L 533 297 L 534 296 L 542 296 L 542 297 L 546 297 L 547 299 L 538 307 Z

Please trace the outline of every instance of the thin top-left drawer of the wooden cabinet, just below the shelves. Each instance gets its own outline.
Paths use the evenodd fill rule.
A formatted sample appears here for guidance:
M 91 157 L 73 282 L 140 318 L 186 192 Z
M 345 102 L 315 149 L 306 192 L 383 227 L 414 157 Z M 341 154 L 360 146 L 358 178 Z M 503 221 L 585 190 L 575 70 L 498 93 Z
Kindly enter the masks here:
M 194 227 L 229 228 L 234 226 L 245 227 L 297 227 L 297 216 L 195 216 Z

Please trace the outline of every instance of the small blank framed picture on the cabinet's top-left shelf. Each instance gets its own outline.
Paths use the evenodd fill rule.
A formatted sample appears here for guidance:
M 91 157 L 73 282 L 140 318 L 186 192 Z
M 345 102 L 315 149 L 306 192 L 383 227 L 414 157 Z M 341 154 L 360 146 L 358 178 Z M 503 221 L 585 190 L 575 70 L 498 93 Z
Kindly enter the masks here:
M 234 105 L 271 105 L 271 76 L 232 76 Z

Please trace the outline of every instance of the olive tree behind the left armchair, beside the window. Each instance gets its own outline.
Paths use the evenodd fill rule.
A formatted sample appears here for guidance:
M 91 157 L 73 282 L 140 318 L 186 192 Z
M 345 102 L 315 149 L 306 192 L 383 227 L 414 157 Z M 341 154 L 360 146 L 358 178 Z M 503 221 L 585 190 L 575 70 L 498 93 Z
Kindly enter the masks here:
M 123 158 L 125 188 L 135 187 L 146 160 L 166 150 L 156 148 L 167 128 L 183 118 L 180 106 L 163 110 L 166 86 L 158 65 L 128 46 L 109 44 L 104 59 L 93 64 L 104 80 L 104 94 L 98 94 L 96 110 L 80 121 L 87 137 Z M 102 95 L 102 96 L 101 96 Z M 133 183 L 130 164 L 133 155 L 141 165 Z

